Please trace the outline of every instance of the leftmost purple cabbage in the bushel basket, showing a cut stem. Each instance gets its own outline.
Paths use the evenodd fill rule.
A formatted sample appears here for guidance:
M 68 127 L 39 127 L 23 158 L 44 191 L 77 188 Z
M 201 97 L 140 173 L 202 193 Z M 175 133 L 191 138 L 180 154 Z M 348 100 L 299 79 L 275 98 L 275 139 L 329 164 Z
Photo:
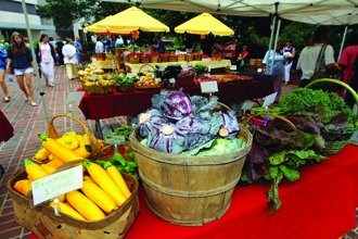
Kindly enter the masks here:
M 168 121 L 163 116 L 162 112 L 157 109 L 150 109 L 144 113 L 139 115 L 139 135 L 142 138 L 146 138 L 152 129 L 153 123 L 168 123 Z

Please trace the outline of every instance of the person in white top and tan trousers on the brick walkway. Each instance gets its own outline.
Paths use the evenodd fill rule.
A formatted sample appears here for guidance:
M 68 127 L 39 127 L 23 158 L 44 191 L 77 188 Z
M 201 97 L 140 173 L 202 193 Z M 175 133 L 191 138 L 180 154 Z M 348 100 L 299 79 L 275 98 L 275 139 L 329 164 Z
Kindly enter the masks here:
M 77 59 L 76 59 L 76 48 L 72 45 L 72 39 L 66 38 L 66 45 L 62 48 L 62 53 L 64 56 L 64 63 L 66 64 L 68 79 L 78 78 L 77 73 Z

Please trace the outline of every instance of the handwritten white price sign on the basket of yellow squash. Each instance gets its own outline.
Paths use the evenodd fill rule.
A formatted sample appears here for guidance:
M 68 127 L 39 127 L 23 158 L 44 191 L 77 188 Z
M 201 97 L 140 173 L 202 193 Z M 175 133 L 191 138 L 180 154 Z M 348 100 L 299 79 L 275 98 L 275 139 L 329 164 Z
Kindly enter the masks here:
M 34 205 L 53 199 L 84 186 L 82 165 L 51 174 L 31 183 Z

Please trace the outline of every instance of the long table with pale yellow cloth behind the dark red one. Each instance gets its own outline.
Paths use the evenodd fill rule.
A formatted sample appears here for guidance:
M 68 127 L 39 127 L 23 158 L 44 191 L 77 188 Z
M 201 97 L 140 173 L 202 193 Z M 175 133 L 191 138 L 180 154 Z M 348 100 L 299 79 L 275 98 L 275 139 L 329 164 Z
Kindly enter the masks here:
M 167 66 L 167 65 L 176 65 L 179 64 L 181 67 L 182 66 L 188 66 L 188 65 L 206 65 L 210 66 L 210 68 L 220 68 L 220 67 L 230 67 L 231 66 L 231 61 L 230 60 L 221 60 L 221 61 L 192 61 L 192 62 L 165 62 L 165 63 L 148 63 L 148 64 L 130 64 L 126 63 L 126 67 L 130 67 L 131 73 L 138 74 L 139 71 L 141 70 L 142 73 L 146 72 L 153 72 L 153 67 L 155 65 L 161 65 L 161 66 Z M 151 67 L 152 65 L 153 67 Z

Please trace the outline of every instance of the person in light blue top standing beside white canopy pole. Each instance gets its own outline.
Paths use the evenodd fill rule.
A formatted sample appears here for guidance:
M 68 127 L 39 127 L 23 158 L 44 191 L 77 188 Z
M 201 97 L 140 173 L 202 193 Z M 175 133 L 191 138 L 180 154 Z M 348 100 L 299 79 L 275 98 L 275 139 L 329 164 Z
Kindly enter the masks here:
M 282 40 L 279 40 L 276 46 L 276 52 L 273 52 L 273 49 L 267 51 L 263 60 L 263 71 L 266 72 L 267 74 L 271 74 L 271 65 L 274 58 L 273 68 L 271 74 L 274 81 L 273 89 L 274 92 L 278 93 L 274 98 L 274 103 L 279 102 L 281 98 L 282 80 L 284 77 L 284 65 L 283 65 L 284 56 L 283 56 L 282 48 L 283 48 L 283 42 Z M 270 53 L 270 58 L 268 59 L 269 53 Z

